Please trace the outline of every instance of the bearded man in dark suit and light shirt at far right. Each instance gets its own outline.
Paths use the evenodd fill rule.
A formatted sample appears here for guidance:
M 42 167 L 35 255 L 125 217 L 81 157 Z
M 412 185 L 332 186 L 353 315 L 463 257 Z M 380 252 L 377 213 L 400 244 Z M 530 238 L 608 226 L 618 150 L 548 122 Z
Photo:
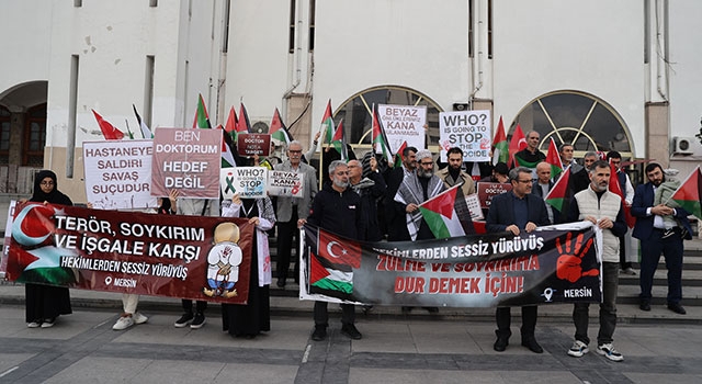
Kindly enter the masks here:
M 692 239 L 692 228 L 688 222 L 689 213 L 681 208 L 672 208 L 665 204 L 654 205 L 656 189 L 666 181 L 663 168 L 656 162 L 646 167 L 648 182 L 636 187 L 632 215 L 636 217 L 633 236 L 641 240 L 641 294 L 642 310 L 650 310 L 650 289 L 654 273 L 663 252 L 668 269 L 668 309 L 684 315 L 680 305 L 682 298 L 682 240 Z M 664 216 L 672 216 L 678 226 L 672 233 L 665 229 Z

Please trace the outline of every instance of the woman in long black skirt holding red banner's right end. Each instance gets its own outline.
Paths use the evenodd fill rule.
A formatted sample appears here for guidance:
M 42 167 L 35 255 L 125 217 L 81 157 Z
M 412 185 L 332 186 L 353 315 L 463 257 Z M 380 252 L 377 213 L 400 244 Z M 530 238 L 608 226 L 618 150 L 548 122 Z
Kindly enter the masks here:
M 256 253 L 251 259 L 249 275 L 249 300 L 246 305 L 222 304 L 222 327 L 233 337 L 252 339 L 262 331 L 271 330 L 271 252 L 268 234 L 275 225 L 273 203 L 263 199 L 240 199 L 235 194 L 231 204 L 222 207 L 224 217 L 248 217 L 256 225 L 256 236 L 251 249 Z

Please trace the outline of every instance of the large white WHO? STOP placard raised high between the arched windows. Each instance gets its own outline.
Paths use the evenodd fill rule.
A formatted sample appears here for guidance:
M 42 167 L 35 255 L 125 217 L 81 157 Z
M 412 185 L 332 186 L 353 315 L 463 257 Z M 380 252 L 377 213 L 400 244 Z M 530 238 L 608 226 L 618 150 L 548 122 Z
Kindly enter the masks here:
M 489 161 L 491 138 L 490 111 L 439 113 L 441 161 L 452 147 L 463 150 L 463 161 Z

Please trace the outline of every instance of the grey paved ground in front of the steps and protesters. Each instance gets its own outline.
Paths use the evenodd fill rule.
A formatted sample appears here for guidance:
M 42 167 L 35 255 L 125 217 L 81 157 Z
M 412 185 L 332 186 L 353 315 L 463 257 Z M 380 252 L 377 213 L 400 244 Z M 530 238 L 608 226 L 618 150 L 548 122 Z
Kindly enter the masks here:
M 274 316 L 269 334 L 246 340 L 222 332 L 215 312 L 197 330 L 174 328 L 179 314 L 161 310 L 147 313 L 145 325 L 113 331 L 116 312 L 90 308 L 75 308 L 54 328 L 29 329 L 23 307 L 5 304 L 0 383 L 702 382 L 697 325 L 621 324 L 615 346 L 625 360 L 615 363 L 593 351 L 566 355 L 574 330 L 557 317 L 540 320 L 536 338 L 545 352 L 534 354 L 519 345 L 519 320 L 511 345 L 498 353 L 491 321 L 360 315 L 362 340 L 341 336 L 333 320 L 329 339 L 315 342 L 309 317 Z

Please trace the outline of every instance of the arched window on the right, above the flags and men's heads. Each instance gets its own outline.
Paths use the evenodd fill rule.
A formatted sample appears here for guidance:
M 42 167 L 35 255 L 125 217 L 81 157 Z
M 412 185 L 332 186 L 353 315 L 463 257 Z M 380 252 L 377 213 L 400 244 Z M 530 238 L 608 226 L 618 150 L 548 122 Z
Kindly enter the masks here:
M 632 158 L 632 140 L 622 117 L 604 101 L 584 92 L 556 91 L 531 101 L 510 127 L 510 136 L 519 124 L 526 134 L 541 134 L 540 149 L 548 150 L 551 137 L 556 145 L 573 144 L 575 157 L 587 151 L 616 150 L 622 158 Z

